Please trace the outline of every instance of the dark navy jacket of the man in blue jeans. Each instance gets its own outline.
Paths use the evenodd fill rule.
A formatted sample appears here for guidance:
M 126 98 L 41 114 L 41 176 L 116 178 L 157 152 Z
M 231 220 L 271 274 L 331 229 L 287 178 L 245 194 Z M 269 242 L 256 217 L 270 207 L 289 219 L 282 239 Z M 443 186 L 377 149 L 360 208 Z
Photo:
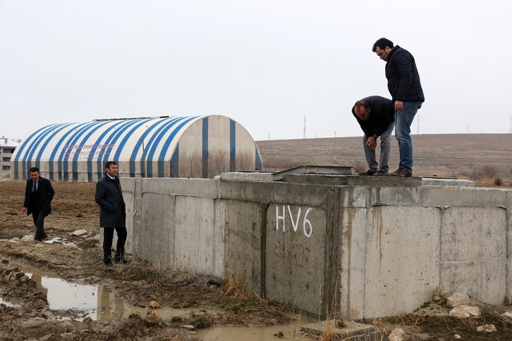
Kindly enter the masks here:
M 386 78 L 393 101 L 425 101 L 414 57 L 398 45 L 389 53 Z

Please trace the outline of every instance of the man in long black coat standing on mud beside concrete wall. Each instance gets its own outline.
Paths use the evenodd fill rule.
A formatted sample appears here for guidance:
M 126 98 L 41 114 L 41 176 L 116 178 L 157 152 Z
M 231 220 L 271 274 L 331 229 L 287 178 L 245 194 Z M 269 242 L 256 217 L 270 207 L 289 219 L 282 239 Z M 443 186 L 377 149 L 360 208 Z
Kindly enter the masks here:
M 112 240 L 114 229 L 117 232 L 117 246 L 114 261 L 130 263 L 124 258 L 124 243 L 126 242 L 126 205 L 123 200 L 121 183 L 117 176 L 117 163 L 109 161 L 105 164 L 105 176 L 96 183 L 94 200 L 101 207 L 99 226 L 103 228 L 103 264 L 112 264 Z

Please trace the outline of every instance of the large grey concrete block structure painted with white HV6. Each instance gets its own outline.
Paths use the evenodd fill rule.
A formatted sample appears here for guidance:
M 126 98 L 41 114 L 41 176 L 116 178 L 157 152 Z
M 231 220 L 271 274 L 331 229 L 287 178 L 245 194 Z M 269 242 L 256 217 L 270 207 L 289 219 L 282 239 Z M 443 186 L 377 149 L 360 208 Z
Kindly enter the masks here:
M 512 293 L 512 190 L 422 182 L 122 179 L 127 249 L 236 275 L 309 314 L 335 303 L 349 321 L 413 311 L 437 285 L 502 304 Z

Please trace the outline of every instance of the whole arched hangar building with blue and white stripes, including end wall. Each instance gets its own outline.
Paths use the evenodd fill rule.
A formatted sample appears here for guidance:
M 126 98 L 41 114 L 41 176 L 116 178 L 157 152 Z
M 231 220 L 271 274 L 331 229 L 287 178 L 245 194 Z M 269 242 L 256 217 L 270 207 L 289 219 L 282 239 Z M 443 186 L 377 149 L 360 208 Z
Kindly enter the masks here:
M 219 115 L 95 120 L 51 124 L 32 133 L 11 158 L 11 177 L 97 181 L 106 161 L 121 177 L 211 178 L 223 172 L 261 171 L 250 134 Z

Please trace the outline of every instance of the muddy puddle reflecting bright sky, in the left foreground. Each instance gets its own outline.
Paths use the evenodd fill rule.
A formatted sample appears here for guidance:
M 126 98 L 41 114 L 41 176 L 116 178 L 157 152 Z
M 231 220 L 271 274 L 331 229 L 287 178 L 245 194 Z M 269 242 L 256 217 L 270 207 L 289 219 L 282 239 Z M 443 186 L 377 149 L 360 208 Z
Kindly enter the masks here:
M 124 302 L 114 292 L 101 285 L 70 283 L 30 265 L 14 262 L 11 262 L 11 265 L 25 272 L 29 278 L 37 283 L 37 288 L 46 293 L 50 309 L 77 309 L 83 311 L 83 314 L 79 314 L 79 317 L 72 317 L 78 321 L 82 321 L 86 317 L 91 317 L 94 321 L 121 321 L 123 318 L 128 318 L 132 313 L 145 316 L 149 311 L 149 309 Z M 173 316 L 181 316 L 190 312 L 186 309 L 165 307 L 155 309 L 155 311 L 162 319 L 170 319 Z M 59 319 L 70 319 L 70 317 Z

